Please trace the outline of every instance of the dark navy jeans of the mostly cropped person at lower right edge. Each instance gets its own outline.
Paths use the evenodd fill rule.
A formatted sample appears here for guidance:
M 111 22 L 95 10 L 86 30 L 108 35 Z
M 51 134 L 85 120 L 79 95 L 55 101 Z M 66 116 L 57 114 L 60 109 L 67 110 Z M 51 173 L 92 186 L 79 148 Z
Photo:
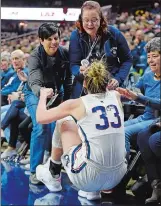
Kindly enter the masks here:
M 148 180 L 161 179 L 161 133 L 150 127 L 139 132 L 137 143 L 145 163 Z

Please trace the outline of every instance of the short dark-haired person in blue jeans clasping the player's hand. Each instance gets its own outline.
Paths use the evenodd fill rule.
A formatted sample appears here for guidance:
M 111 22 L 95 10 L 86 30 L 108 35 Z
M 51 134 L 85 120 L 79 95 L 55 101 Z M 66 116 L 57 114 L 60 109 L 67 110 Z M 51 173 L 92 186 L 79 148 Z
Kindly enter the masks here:
M 44 23 L 39 27 L 38 35 L 40 45 L 33 50 L 28 60 L 29 77 L 25 89 L 25 103 L 33 123 L 30 143 L 30 182 L 32 184 L 40 183 L 36 179 L 35 170 L 43 161 L 45 143 L 48 144 L 48 150 L 51 150 L 51 137 L 55 126 L 54 123 L 41 125 L 36 121 L 40 88 L 52 88 L 54 93 L 58 92 L 59 96 L 52 104 L 57 106 L 69 99 L 72 87 L 68 51 L 59 46 L 59 28 L 54 23 Z

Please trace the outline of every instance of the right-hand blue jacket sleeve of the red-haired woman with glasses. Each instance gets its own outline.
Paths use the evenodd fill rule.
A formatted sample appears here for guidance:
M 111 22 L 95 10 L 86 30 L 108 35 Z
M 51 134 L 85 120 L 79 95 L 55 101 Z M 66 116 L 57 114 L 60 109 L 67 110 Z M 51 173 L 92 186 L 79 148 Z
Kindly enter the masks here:
M 115 79 L 117 79 L 119 83 L 123 83 L 123 81 L 129 74 L 130 68 L 132 66 L 132 55 L 125 37 L 119 30 L 116 38 L 118 45 L 118 59 L 120 62 L 120 68 L 118 73 L 115 75 Z

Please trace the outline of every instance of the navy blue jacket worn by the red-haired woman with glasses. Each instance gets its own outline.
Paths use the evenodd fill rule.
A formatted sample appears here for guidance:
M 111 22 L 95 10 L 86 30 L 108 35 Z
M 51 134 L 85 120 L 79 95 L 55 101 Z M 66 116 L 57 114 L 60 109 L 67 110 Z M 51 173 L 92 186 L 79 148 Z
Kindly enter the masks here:
M 87 39 L 88 35 L 85 32 L 80 33 L 77 29 L 72 32 L 70 37 L 70 69 L 75 76 L 72 98 L 78 98 L 82 92 L 83 76 L 80 74 L 79 69 L 81 60 L 88 56 Z M 132 65 L 132 55 L 127 41 L 121 32 L 113 26 L 108 26 L 107 32 L 101 36 L 101 41 L 104 44 L 108 69 L 121 86 Z

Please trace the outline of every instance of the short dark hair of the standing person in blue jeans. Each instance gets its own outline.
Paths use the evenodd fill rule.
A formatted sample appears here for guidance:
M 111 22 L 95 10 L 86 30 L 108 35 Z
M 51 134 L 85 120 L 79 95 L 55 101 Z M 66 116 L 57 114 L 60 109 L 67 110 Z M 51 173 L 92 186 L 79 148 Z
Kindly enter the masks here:
M 60 38 L 59 27 L 55 23 L 44 23 L 39 27 L 38 36 L 44 41 L 44 39 L 49 38 L 53 34 L 58 33 Z

